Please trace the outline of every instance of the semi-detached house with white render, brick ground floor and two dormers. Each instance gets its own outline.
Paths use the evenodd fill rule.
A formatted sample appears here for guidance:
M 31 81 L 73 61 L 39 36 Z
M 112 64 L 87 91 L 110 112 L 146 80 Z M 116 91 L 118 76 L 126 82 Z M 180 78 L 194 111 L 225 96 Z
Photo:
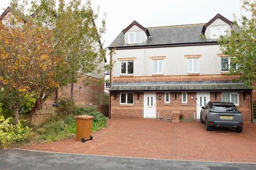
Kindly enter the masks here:
M 108 47 L 110 117 L 200 118 L 209 101 L 234 103 L 251 122 L 252 90 L 227 76 L 229 56 L 217 39 L 230 34 L 233 22 L 220 14 L 207 23 L 145 28 L 133 21 Z M 236 81 L 234 81 L 236 80 Z

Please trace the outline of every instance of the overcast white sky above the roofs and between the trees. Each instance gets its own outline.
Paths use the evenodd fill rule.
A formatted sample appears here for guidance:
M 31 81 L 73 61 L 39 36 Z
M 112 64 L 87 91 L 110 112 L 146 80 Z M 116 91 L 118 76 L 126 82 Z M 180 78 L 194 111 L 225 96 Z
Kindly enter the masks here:
M 82 3 L 85 4 L 85 0 Z M 109 46 L 115 37 L 132 21 L 143 27 L 206 23 L 220 13 L 233 21 L 233 14 L 240 16 L 239 0 L 91 0 L 94 9 L 100 6 L 100 24 L 102 14 L 107 14 L 107 32 L 101 41 Z M 9 6 L 10 0 L 0 1 L 0 13 Z

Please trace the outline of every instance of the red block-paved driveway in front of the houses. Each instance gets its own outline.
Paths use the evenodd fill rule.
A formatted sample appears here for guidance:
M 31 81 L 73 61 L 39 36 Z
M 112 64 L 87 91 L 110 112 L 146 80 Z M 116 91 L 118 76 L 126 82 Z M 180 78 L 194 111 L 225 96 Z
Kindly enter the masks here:
M 22 149 L 90 155 L 256 163 L 256 124 L 205 131 L 199 122 L 110 119 L 108 128 L 85 143 L 75 138 Z

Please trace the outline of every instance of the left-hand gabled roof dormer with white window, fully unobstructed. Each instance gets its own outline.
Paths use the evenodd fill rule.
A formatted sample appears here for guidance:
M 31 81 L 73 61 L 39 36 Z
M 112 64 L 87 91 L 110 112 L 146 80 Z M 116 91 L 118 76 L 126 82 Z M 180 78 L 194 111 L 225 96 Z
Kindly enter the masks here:
M 123 30 L 125 44 L 141 44 L 146 43 L 150 36 L 147 28 L 143 27 L 137 21 L 133 21 L 127 28 Z

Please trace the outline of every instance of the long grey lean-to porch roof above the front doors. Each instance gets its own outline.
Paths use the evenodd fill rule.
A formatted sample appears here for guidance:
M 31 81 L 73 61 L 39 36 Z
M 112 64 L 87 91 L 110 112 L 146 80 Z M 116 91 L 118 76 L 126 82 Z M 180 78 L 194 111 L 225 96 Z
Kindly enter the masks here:
M 113 83 L 109 91 L 228 91 L 250 90 L 243 82 L 135 82 Z

